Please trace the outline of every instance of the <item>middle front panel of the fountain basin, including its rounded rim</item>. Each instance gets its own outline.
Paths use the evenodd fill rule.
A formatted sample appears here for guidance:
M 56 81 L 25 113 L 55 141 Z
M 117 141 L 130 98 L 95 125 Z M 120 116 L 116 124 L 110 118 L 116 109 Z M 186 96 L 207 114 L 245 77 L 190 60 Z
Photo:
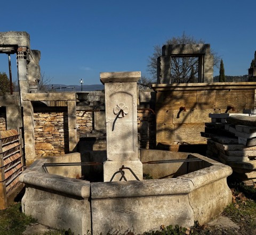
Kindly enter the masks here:
M 93 233 L 115 231 L 120 224 L 121 233 L 129 229 L 135 234 L 156 230 L 162 224 L 194 224 L 187 197 L 193 184 L 169 180 L 91 183 Z

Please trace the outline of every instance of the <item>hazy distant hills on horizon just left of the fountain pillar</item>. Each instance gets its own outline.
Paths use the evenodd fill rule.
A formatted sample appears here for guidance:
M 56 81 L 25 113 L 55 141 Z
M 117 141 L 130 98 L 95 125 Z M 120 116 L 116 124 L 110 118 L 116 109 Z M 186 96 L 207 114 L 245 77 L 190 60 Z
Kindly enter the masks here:
M 93 85 L 83 85 L 83 91 L 93 91 L 93 90 L 103 90 L 104 85 L 93 84 Z M 53 91 L 81 91 L 81 86 L 79 85 L 63 85 L 63 84 L 51 84 L 48 85 L 48 90 Z

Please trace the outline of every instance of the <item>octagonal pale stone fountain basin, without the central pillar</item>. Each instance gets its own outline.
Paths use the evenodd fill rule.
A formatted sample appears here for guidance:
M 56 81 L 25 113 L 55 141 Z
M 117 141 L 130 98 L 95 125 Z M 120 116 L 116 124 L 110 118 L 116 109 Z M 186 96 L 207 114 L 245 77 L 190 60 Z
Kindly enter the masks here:
M 92 159 L 93 152 L 90 154 Z M 202 161 L 143 164 L 143 172 L 154 180 L 90 182 L 75 179 L 84 171 L 81 166 L 47 167 L 48 173 L 43 169 L 44 163 L 81 162 L 79 153 L 43 158 L 20 175 L 26 184 L 22 211 L 39 223 L 70 228 L 75 234 L 123 233 L 127 229 L 138 234 L 158 230 L 162 224 L 204 224 L 231 203 L 229 166 L 199 154 L 163 150 L 141 149 L 139 158 L 142 163 L 187 158 Z M 98 167 L 94 174 L 100 170 Z

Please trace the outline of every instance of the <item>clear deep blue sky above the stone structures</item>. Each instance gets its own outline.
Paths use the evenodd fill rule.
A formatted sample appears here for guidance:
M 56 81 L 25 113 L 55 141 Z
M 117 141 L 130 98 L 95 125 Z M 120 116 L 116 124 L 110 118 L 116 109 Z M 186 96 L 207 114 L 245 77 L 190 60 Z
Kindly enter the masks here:
M 0 31 L 26 31 L 52 83 L 99 84 L 100 72 L 147 74 L 154 45 L 183 32 L 204 39 L 226 75 L 248 73 L 256 51 L 256 1 L 3 1 Z M 0 71 L 8 72 L 0 54 Z M 17 78 L 12 56 L 13 77 Z M 8 73 L 7 73 L 8 74 Z M 214 75 L 218 75 L 218 69 Z

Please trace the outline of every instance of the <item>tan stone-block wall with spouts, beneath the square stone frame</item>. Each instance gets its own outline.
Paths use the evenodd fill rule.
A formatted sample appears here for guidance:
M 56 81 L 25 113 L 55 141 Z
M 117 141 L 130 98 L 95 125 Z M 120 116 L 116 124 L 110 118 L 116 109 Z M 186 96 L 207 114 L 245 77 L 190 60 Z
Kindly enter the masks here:
M 156 143 L 199 144 L 209 113 L 243 113 L 254 108 L 255 82 L 153 85 L 156 94 Z M 185 107 L 185 110 L 182 108 Z

